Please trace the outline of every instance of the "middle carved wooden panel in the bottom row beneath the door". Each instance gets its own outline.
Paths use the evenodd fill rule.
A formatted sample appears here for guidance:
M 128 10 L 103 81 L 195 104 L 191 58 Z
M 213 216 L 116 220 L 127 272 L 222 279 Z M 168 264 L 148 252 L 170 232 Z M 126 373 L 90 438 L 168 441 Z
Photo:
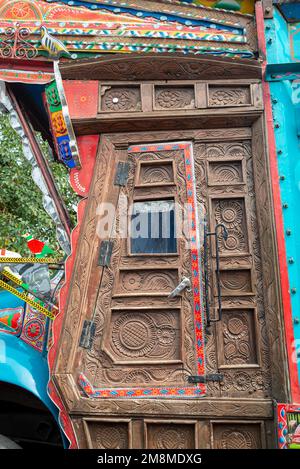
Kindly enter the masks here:
M 147 448 L 194 449 L 194 433 L 194 425 L 147 424 Z

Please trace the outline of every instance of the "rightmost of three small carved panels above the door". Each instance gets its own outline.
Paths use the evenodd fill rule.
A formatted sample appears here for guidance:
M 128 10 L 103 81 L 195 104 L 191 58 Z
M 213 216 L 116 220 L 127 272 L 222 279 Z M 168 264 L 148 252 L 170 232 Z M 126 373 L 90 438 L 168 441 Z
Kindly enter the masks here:
M 250 87 L 209 87 L 209 105 L 213 107 L 251 104 Z

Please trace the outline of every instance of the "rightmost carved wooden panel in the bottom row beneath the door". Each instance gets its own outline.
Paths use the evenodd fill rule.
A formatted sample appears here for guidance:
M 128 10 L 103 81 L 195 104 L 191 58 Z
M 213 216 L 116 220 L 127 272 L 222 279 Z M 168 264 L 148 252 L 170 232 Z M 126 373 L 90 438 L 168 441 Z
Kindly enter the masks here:
M 214 448 L 256 449 L 261 448 L 259 424 L 213 424 Z

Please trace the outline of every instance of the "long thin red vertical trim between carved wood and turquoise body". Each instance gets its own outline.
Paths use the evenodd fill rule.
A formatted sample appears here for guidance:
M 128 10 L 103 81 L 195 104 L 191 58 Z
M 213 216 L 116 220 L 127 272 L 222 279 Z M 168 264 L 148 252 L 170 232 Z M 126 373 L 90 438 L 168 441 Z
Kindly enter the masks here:
M 265 75 L 266 69 L 266 41 L 265 41 L 265 25 L 263 8 L 261 2 L 256 2 L 256 24 L 257 24 L 257 35 L 258 45 L 261 55 L 263 57 L 263 76 Z M 271 172 L 271 183 L 273 192 L 273 203 L 274 203 L 274 214 L 275 214 L 275 226 L 277 234 L 277 247 L 279 257 L 279 271 L 281 279 L 281 294 L 284 311 L 284 323 L 285 323 L 285 336 L 288 353 L 288 364 L 290 373 L 290 385 L 293 402 L 300 402 L 300 383 L 298 380 L 298 369 L 295 357 L 295 338 L 294 328 L 292 321 L 292 308 L 290 298 L 290 286 L 288 278 L 288 268 L 286 262 L 286 250 L 285 250 L 285 239 L 284 239 L 284 225 L 282 217 L 282 204 L 280 197 L 279 188 L 279 175 L 277 167 L 277 153 L 276 153 L 276 142 L 273 127 L 273 115 L 271 105 L 271 95 L 269 83 L 263 80 L 263 95 L 265 105 L 265 116 L 267 124 L 267 139 L 269 148 L 269 161 L 270 161 L 270 172 Z

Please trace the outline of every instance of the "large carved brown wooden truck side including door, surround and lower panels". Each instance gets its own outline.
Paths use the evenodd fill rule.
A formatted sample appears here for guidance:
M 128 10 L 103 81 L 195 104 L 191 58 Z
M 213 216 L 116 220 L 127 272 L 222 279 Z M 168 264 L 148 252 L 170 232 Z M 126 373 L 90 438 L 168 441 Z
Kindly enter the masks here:
M 101 136 L 55 372 L 80 447 L 274 446 L 285 391 L 262 129 Z M 222 317 L 208 243 L 209 331 L 204 219 L 228 235 Z

